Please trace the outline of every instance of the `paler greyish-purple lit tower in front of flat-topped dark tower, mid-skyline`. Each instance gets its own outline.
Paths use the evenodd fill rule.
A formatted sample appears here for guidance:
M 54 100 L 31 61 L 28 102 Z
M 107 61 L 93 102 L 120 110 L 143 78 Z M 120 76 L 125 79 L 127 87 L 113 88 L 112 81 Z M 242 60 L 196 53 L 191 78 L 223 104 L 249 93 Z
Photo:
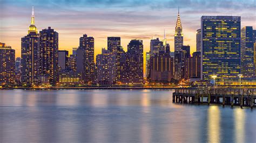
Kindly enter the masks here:
M 96 56 L 97 83 L 112 85 L 116 80 L 116 54 L 102 48 L 102 54 Z

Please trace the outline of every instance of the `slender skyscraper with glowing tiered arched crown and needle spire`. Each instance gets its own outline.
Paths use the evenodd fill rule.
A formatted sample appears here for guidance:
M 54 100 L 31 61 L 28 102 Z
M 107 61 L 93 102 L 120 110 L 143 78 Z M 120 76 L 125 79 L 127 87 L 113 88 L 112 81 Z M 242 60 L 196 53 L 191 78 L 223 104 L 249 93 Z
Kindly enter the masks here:
M 183 33 L 182 33 L 181 20 L 179 17 L 179 10 L 178 10 L 178 18 L 177 18 L 175 34 L 174 34 L 174 51 L 180 51 L 182 46 L 183 46 Z

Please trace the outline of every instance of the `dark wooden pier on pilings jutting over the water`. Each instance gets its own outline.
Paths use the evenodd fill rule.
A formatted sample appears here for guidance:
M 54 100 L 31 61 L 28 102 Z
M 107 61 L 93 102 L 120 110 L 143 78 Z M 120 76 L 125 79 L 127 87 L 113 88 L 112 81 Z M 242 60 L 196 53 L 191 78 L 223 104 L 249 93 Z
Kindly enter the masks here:
M 256 89 L 239 88 L 183 88 L 175 89 L 172 95 L 173 103 L 181 104 L 220 104 L 247 106 L 253 108 L 256 104 Z

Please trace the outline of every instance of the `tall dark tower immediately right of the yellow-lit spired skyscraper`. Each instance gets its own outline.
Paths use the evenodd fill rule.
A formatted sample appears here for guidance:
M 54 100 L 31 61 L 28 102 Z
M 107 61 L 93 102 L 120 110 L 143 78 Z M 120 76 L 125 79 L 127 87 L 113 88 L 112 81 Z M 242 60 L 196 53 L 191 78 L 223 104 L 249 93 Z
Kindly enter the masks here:
M 58 75 L 58 32 L 48 27 L 40 35 L 40 74 L 55 85 Z

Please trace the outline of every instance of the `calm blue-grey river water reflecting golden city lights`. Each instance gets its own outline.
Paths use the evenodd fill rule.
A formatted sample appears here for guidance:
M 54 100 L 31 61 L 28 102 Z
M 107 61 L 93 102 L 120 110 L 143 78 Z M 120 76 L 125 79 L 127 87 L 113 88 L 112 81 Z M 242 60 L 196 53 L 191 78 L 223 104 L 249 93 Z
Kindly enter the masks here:
M 0 142 L 256 142 L 255 109 L 172 90 L 0 90 Z

